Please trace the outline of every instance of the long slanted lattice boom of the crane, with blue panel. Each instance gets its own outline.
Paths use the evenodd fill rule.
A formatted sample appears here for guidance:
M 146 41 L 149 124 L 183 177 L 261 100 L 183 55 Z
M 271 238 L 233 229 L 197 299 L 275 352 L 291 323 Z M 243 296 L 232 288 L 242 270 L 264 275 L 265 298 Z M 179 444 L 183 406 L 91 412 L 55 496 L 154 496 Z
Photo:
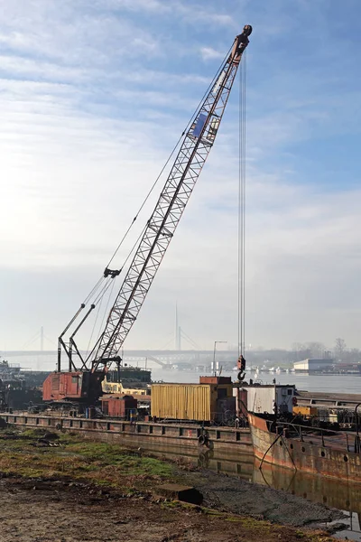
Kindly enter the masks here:
M 105 330 L 87 360 L 92 371 L 97 370 L 99 365 L 106 367 L 116 359 L 137 318 L 216 139 L 236 71 L 251 32 L 252 27 L 245 25 L 243 33 L 236 36 L 232 51 L 215 85 L 208 92 L 195 121 L 184 135 L 180 151 L 110 310 Z

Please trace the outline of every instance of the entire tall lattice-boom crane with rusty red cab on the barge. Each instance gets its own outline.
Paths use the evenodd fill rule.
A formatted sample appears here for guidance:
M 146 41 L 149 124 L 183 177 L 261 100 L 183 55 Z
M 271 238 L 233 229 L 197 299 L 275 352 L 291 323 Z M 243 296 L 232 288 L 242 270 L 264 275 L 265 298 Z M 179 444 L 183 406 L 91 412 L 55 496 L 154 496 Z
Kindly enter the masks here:
M 121 363 L 118 352 L 137 318 L 199 173 L 215 142 L 236 72 L 251 33 L 252 26 L 246 24 L 243 32 L 236 36 L 230 54 L 218 71 L 218 77 L 214 79 L 215 82 L 210 86 L 193 117 L 193 122 L 183 134 L 180 150 L 171 166 L 153 214 L 143 229 L 133 260 L 108 314 L 104 331 L 101 332 L 92 350 L 84 357 L 76 344 L 75 335 L 96 304 L 90 304 L 68 342 L 64 340 L 65 333 L 79 318 L 86 307 L 85 303 L 80 305 L 77 313 L 60 334 L 57 370 L 43 383 L 45 401 L 76 400 L 88 405 L 94 404 L 102 395 L 101 382 L 107 370 L 112 363 L 118 366 Z M 106 266 L 103 277 L 107 281 L 113 281 L 121 271 L 122 269 L 110 269 Z M 68 357 L 68 372 L 61 371 L 62 351 L 65 351 Z

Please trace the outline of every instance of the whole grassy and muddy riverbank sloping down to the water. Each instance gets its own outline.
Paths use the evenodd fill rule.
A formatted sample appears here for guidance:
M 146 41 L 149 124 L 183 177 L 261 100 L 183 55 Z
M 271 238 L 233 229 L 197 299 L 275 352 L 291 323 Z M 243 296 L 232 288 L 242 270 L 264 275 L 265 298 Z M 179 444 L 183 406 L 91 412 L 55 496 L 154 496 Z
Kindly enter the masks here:
M 332 538 L 314 529 L 340 517 L 282 491 L 69 434 L 0 432 L 0 473 L 4 541 L 325 542 Z M 169 482 L 197 488 L 202 506 L 160 497 Z

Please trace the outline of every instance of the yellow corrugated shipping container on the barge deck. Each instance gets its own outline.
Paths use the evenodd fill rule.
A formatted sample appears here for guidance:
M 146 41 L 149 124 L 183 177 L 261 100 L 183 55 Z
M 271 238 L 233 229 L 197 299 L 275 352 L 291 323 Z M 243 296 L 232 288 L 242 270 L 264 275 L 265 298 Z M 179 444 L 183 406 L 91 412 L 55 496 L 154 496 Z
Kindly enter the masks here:
M 232 397 L 232 385 L 153 384 L 152 416 L 213 421 L 218 416 L 218 399 L 222 397 Z

